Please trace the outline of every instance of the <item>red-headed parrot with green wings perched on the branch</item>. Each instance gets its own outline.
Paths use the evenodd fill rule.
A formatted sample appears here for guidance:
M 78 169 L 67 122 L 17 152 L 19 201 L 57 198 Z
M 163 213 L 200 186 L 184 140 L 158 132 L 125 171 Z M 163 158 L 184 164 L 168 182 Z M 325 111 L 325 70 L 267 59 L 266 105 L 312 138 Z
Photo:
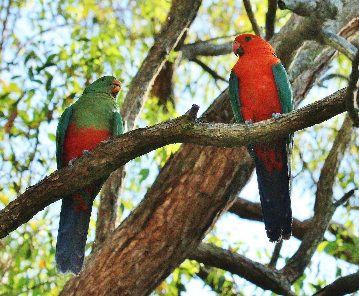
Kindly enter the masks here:
M 288 75 L 269 43 L 256 35 L 243 34 L 234 39 L 233 52 L 238 61 L 230 73 L 229 97 L 237 123 L 249 126 L 293 111 Z M 288 240 L 292 235 L 293 134 L 247 148 L 256 166 L 269 241 Z

